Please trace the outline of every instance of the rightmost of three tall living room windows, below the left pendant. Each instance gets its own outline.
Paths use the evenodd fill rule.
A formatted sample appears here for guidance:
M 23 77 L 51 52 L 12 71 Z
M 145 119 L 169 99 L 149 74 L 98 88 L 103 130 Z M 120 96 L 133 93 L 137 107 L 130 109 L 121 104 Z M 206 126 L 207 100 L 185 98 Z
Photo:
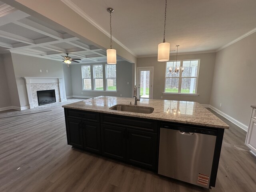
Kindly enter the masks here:
M 116 91 L 116 65 L 106 65 L 107 90 Z

